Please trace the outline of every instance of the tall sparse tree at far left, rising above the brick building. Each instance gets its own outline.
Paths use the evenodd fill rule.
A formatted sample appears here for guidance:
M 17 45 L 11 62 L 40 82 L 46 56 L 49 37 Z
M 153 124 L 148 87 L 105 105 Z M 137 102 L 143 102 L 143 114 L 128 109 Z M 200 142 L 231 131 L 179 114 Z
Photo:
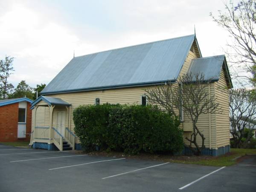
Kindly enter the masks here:
M 13 68 L 14 58 L 6 56 L 5 59 L 0 60 L 0 98 L 6 99 L 8 95 L 12 92 L 14 86 L 8 82 Z

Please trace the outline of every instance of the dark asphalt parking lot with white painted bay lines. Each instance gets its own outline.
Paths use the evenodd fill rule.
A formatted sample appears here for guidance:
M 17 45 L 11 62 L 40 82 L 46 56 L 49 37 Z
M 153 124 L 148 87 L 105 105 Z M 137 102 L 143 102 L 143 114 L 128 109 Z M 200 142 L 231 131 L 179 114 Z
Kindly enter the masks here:
M 255 192 L 256 156 L 211 167 L 0 144 L 0 192 Z

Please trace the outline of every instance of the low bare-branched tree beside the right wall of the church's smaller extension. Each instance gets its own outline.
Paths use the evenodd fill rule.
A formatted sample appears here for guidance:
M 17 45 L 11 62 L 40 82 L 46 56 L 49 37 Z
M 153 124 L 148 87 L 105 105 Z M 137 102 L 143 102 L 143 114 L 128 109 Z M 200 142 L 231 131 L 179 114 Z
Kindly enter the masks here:
M 250 128 L 250 121 L 256 119 L 256 101 L 251 97 L 250 90 L 230 89 L 229 90 L 230 105 L 230 133 L 233 136 L 234 147 L 241 148 L 248 143 L 250 135 L 244 143 L 241 142 L 244 137 L 244 129 Z

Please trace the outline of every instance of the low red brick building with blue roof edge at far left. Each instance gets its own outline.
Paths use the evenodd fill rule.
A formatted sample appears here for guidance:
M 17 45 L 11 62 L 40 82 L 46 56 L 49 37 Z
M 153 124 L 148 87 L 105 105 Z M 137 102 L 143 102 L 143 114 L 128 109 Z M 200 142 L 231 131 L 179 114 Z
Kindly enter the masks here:
M 0 100 L 0 142 L 30 139 L 32 102 L 28 98 Z

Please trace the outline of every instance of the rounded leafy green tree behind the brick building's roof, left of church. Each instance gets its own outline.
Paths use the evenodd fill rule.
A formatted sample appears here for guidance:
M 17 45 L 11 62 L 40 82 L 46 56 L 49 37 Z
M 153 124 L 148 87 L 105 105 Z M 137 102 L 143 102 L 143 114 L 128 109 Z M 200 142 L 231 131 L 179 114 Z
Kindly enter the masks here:
M 26 81 L 20 81 L 11 96 L 12 98 L 27 97 L 29 99 L 34 98 L 33 88 L 26 84 Z

